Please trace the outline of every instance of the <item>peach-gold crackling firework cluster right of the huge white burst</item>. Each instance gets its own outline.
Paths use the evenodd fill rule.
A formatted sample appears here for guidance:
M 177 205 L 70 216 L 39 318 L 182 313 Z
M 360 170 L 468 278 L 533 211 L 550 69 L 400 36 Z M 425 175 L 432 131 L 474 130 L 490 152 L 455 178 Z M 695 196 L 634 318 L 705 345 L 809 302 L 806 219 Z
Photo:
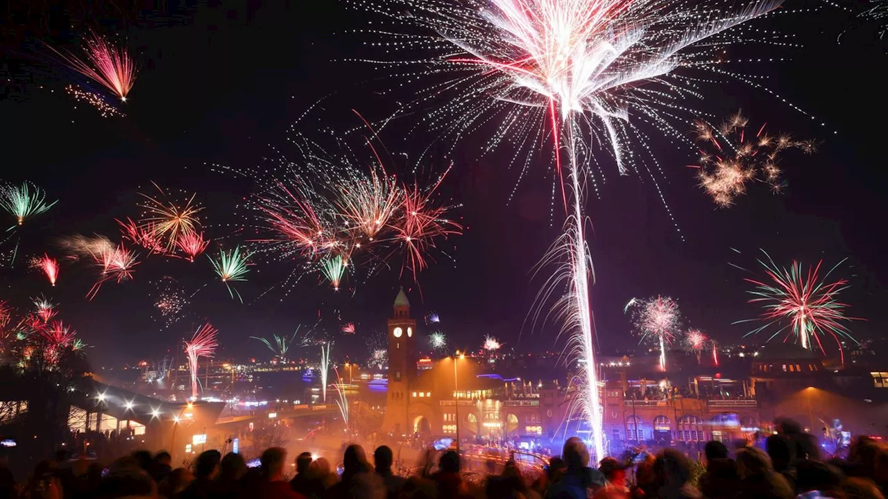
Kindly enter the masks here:
M 777 165 L 781 152 L 797 148 L 811 154 L 814 150 L 810 140 L 768 135 L 766 123 L 753 135 L 747 132 L 747 124 L 749 121 L 739 112 L 718 128 L 702 120 L 694 123 L 701 156 L 700 164 L 692 167 L 700 169 L 700 186 L 721 208 L 731 206 L 737 196 L 745 194 L 751 181 L 767 184 L 773 193 L 781 192 L 784 182 Z

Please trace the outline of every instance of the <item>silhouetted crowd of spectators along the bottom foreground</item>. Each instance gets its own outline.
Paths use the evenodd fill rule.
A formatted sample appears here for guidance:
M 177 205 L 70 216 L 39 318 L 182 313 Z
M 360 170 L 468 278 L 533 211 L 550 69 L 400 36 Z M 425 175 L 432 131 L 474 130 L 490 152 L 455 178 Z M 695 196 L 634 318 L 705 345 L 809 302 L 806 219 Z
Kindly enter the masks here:
M 625 461 L 606 457 L 595 466 L 575 437 L 533 475 L 509 460 L 502 471 L 491 467 L 470 479 L 453 449 L 406 477 L 392 471 L 391 448 L 378 447 L 372 462 L 360 445 L 350 445 L 340 475 L 327 459 L 302 453 L 289 477 L 283 448 L 266 449 L 258 468 L 216 450 L 177 469 L 165 452 L 135 452 L 107 469 L 62 452 L 39 463 L 21 486 L 0 467 L 0 499 L 884 499 L 888 487 L 888 447 L 861 437 L 846 458 L 823 461 L 816 440 L 791 421 L 778 425 L 765 450 L 708 442 L 702 473 L 702 464 L 674 448 Z

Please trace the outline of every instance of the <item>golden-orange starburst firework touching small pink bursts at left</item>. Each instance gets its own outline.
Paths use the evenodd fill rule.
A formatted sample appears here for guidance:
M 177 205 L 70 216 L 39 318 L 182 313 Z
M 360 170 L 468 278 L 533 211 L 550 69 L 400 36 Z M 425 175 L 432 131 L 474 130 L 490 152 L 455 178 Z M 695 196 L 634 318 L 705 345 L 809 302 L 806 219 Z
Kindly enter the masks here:
M 154 231 L 155 237 L 163 242 L 167 252 L 176 247 L 178 238 L 182 234 L 196 233 L 200 231 L 200 219 L 198 214 L 203 208 L 194 202 L 197 194 L 192 194 L 186 202 L 170 201 L 161 186 L 154 182 L 160 196 L 152 197 L 139 193 L 144 201 L 139 206 L 145 210 L 145 215 L 139 221 L 139 225 Z

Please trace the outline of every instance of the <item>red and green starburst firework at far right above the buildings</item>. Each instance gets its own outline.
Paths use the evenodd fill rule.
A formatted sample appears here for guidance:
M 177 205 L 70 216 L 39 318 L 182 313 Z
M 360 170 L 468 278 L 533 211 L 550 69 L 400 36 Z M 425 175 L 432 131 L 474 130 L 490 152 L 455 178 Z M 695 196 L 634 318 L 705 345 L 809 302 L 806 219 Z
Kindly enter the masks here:
M 848 289 L 848 281 L 839 279 L 828 281 L 829 275 L 845 261 L 844 258 L 829 269 L 823 277 L 820 276 L 823 260 L 817 265 L 802 268 L 802 264 L 793 261 L 788 268 L 781 268 L 774 263 L 773 258 L 764 250 L 765 259 L 759 259 L 758 263 L 765 269 L 767 280 L 745 278 L 755 289 L 749 290 L 754 296 L 749 303 L 762 305 L 765 309 L 759 319 L 765 324 L 757 329 L 749 331 L 745 336 L 756 335 L 771 328 L 776 331 L 767 338 L 771 341 L 782 333 L 788 333 L 788 337 L 795 337 L 802 348 L 813 350 L 813 344 L 826 353 L 821 342 L 821 336 L 828 334 L 836 341 L 842 363 L 844 364 L 843 339 L 857 343 L 851 336 L 851 331 L 844 325 L 845 321 L 862 321 L 857 317 L 848 317 L 844 311 L 849 305 L 837 301 L 838 294 Z M 737 321 L 736 323 L 748 322 Z M 786 340 L 784 340 L 786 341 Z

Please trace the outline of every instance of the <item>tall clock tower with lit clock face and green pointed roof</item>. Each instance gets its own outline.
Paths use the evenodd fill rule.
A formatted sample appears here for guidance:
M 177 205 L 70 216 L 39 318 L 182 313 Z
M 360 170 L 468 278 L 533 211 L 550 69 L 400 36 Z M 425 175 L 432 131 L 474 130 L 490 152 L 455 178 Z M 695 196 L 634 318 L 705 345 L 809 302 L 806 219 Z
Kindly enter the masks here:
M 394 313 L 388 320 L 388 340 L 388 389 L 382 430 L 400 436 L 412 432 L 408 390 L 416 377 L 416 321 L 410 318 L 410 302 L 403 288 L 394 299 Z

